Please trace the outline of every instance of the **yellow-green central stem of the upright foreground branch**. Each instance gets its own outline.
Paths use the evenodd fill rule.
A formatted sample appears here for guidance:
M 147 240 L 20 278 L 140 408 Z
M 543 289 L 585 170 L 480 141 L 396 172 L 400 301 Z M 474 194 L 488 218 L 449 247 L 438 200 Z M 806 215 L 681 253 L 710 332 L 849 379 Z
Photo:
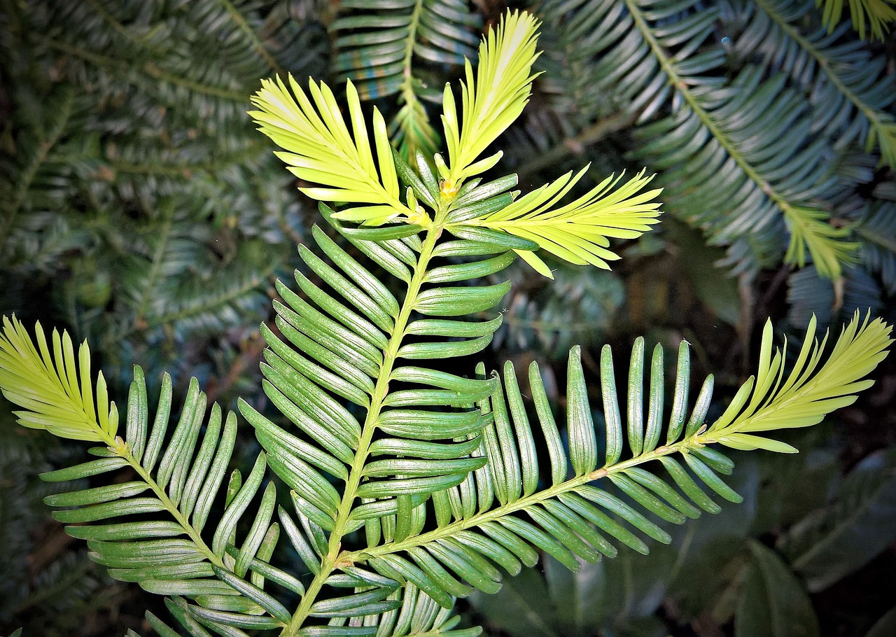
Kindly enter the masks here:
M 370 398 L 370 407 L 367 409 L 367 416 L 364 426 L 361 430 L 361 439 L 358 443 L 358 449 L 355 452 L 354 461 L 352 461 L 349 469 L 349 478 L 346 480 L 346 486 L 342 494 L 342 501 L 336 512 L 336 518 L 333 522 L 333 529 L 330 533 L 330 544 L 327 555 L 323 555 L 321 560 L 320 572 L 314 576 L 314 581 L 307 587 L 302 601 L 299 603 L 296 612 L 292 615 L 292 621 L 289 623 L 281 637 L 294 637 L 305 621 L 314 605 L 318 593 L 323 587 L 323 582 L 330 576 L 337 567 L 342 564 L 342 538 L 346 533 L 346 526 L 349 523 L 349 516 L 357 499 L 358 486 L 367 461 L 367 454 L 370 449 L 370 443 L 373 441 L 376 428 L 379 425 L 380 412 L 383 408 L 383 400 L 389 393 L 389 378 L 392 375 L 392 368 L 395 365 L 395 359 L 398 350 L 401 348 L 401 342 L 405 337 L 405 330 L 408 326 L 410 313 L 414 306 L 417 305 L 417 298 L 420 288 L 423 285 L 424 277 L 430 260 L 432 259 L 435 242 L 442 234 L 444 226 L 444 217 L 448 209 L 448 201 L 444 201 L 439 211 L 435 214 L 435 223 L 426 231 L 426 238 L 420 250 L 420 256 L 417 265 L 414 267 L 414 274 L 410 280 L 408 294 L 404 297 L 401 304 L 401 310 L 395 320 L 395 327 L 392 330 L 392 336 L 389 339 L 386 348 L 383 351 L 383 365 L 377 375 L 374 392 Z

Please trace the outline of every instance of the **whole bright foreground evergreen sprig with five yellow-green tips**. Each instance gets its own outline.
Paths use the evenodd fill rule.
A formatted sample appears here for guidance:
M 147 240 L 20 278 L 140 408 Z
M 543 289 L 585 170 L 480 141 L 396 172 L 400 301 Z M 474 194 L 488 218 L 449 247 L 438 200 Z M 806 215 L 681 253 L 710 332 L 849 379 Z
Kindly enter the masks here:
M 640 9 L 628 9 L 643 22 Z M 721 478 L 733 462 L 719 446 L 795 452 L 775 432 L 817 424 L 870 386 L 866 376 L 886 356 L 891 328 L 858 313 L 830 349 L 810 323 L 789 364 L 767 323 L 757 373 L 715 418 L 712 376 L 690 398 L 685 340 L 668 412 L 666 355 L 658 346 L 647 364 L 643 339 L 634 342 L 624 388 L 612 350 L 601 351 L 599 392 L 590 392 L 582 351 L 573 348 L 559 419 L 538 365 L 529 368 L 531 406 L 510 363 L 501 373 L 482 364 L 464 373 L 453 360 L 445 371 L 443 359 L 478 354 L 492 340 L 510 288 L 494 280 L 517 255 L 547 276 L 538 250 L 607 267 L 616 258 L 610 240 L 640 236 L 659 215 L 659 190 L 643 191 L 644 173 L 621 185 L 618 177 L 597 179 L 571 202 L 564 195 L 584 169 L 529 194 L 511 190 L 514 175 L 481 177 L 501 159 L 488 147 L 530 99 L 537 39 L 528 13 L 507 13 L 488 31 L 476 72 L 465 63 L 461 98 L 444 91 L 447 151 L 432 165 L 423 152 L 414 167 L 393 152 L 376 109 L 368 128 L 351 83 L 345 115 L 323 82 L 309 82 L 306 92 L 281 78 L 255 95 L 255 120 L 311 184 L 302 190 L 321 202 L 329 228 L 315 226 L 313 244 L 299 246 L 296 286 L 278 281 L 276 317 L 262 327 L 263 392 L 280 416 L 239 402 L 263 448 L 245 477 L 228 473 L 237 415 L 209 407 L 195 380 L 177 415 L 170 377 L 151 400 L 155 392 L 134 367 L 119 413 L 103 376 L 90 372 L 86 344 L 76 354 L 67 332 L 47 340 L 38 325 L 32 337 L 14 316 L 4 319 L 0 387 L 22 408 L 21 424 L 100 443 L 90 450 L 96 460 L 43 478 L 127 471 L 124 481 L 50 495 L 47 504 L 113 577 L 167 596 L 188 633 L 478 634 L 457 628 L 455 598 L 496 592 L 504 573 L 535 564 L 539 552 L 575 571 L 580 560 L 615 557 L 622 546 L 646 553 L 644 538 L 668 542 L 658 521 L 719 512 L 715 496 L 741 500 Z M 694 77 L 694 68 L 675 72 Z M 755 87 L 751 73 L 746 67 L 735 83 Z M 745 104 L 712 90 L 682 90 L 685 120 L 713 134 L 727 130 L 708 142 L 711 153 L 731 160 L 737 188 L 753 188 L 750 171 L 771 168 L 737 146 L 745 133 L 727 117 Z M 788 99 L 772 96 L 759 110 L 787 108 Z M 796 187 L 790 181 L 774 192 L 783 198 L 785 186 Z M 793 228 L 806 223 L 803 234 L 792 230 L 796 249 L 808 245 L 816 267 L 833 274 L 842 233 L 797 203 L 785 208 L 778 195 L 765 196 L 762 210 L 774 204 Z M 484 278 L 491 280 L 477 282 Z M 289 494 L 281 502 L 278 486 Z M 301 564 L 274 559 L 281 535 Z M 158 616 L 148 619 L 160 634 L 177 634 Z

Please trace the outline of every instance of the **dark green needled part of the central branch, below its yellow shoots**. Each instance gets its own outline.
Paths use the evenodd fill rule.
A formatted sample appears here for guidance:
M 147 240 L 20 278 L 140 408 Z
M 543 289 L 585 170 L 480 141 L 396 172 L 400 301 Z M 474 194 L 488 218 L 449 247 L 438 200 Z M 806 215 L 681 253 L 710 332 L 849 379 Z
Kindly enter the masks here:
M 457 484 L 470 470 L 481 467 L 484 460 L 465 458 L 475 443 L 435 441 L 451 441 L 485 425 L 487 417 L 478 410 L 444 408 L 482 400 L 492 383 L 436 371 L 416 361 L 465 356 L 487 346 L 500 317 L 483 323 L 451 317 L 494 306 L 508 286 L 447 288 L 439 284 L 501 271 L 513 261 L 513 253 L 497 248 L 498 256 L 491 259 L 436 267 L 421 275 L 418 253 L 423 246 L 417 227 L 344 228 L 333 219 L 332 211 L 323 207 L 322 211 L 359 251 L 412 286 L 412 307 L 422 314 L 409 321 L 409 307 L 401 309 L 388 288 L 320 228 L 314 228 L 314 240 L 329 263 L 305 246 L 299 254 L 309 276 L 323 286 L 297 272 L 304 294 L 299 297 L 278 282 L 283 299 L 283 303 L 275 302 L 280 333 L 262 328 L 270 346 L 262 366 L 264 390 L 313 444 L 273 425 L 246 403 L 241 409 L 256 427 L 271 467 L 302 498 L 308 517 L 331 531 L 340 511 L 340 496 L 319 470 L 343 480 L 350 471 L 358 474 L 357 496 L 366 502 L 358 506 L 360 524 L 368 518 L 375 523 L 384 512 L 394 512 L 403 498 L 409 504 L 412 495 Z M 444 244 L 432 256 L 464 254 L 465 245 L 463 241 Z M 426 289 L 418 291 L 424 283 Z M 393 364 L 402 358 L 410 365 Z M 386 396 L 385 379 L 407 389 Z M 366 410 L 366 421 L 341 407 L 341 400 Z M 386 437 L 371 443 L 375 429 Z M 358 448 L 376 460 L 356 466 Z M 360 475 L 365 476 L 363 481 Z

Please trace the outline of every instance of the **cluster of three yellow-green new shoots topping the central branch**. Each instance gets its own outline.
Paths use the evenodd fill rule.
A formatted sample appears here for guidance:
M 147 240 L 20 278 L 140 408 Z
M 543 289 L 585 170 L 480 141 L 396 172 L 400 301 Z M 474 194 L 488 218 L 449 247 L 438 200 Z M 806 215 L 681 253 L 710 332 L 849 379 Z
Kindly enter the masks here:
M 500 151 L 486 159 L 479 156 L 525 108 L 535 79 L 532 65 L 538 58 L 537 42 L 538 21 L 529 13 L 508 12 L 483 39 L 475 77 L 467 61 L 466 81 L 461 82 L 461 114 L 451 88 L 445 87 L 442 121 L 448 163 L 435 156 L 442 181 L 441 201 L 428 200 L 433 211 L 451 206 L 465 180 L 494 167 L 501 159 Z M 291 94 L 279 79 L 263 82 L 262 90 L 253 98 L 261 110 L 251 115 L 261 125 L 260 130 L 287 151 L 277 154 L 296 176 L 326 186 L 302 187 L 303 193 L 323 202 L 347 203 L 334 215 L 340 220 L 366 225 L 388 221 L 422 226 L 433 223 L 423 209 L 426 202 L 418 203 L 411 189 L 402 201 L 386 126 L 376 109 L 374 158 L 358 93 L 351 82 L 346 89 L 350 131 L 326 84 L 309 84 L 313 102 L 291 77 L 289 85 Z M 503 210 L 452 223 L 447 229 L 475 226 L 498 230 L 532 241 L 569 263 L 606 268 L 607 261 L 617 258 L 607 249 L 610 237 L 638 237 L 657 222 L 659 202 L 653 200 L 660 191 L 641 192 L 652 179 L 643 172 L 618 188 L 621 176 L 609 176 L 574 202 L 560 205 L 587 169 L 574 176 L 561 176 Z M 516 252 L 536 271 L 552 276 L 536 254 Z

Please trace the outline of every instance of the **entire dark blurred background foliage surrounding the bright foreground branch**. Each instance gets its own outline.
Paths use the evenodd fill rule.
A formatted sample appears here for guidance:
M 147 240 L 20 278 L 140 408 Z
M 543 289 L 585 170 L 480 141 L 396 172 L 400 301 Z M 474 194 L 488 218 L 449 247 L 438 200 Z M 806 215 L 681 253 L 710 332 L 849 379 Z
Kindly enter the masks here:
M 856 308 L 896 319 L 896 13 L 819 4 L 511 4 L 544 21 L 545 73 L 498 143 L 504 170 L 528 189 L 589 161 L 595 179 L 647 166 L 667 214 L 613 271 L 514 266 L 493 363 L 538 360 L 556 397 L 573 344 L 596 374 L 603 343 L 643 334 L 690 341 L 695 371 L 730 390 L 766 316 L 790 334 L 812 314 L 834 330 Z M 396 147 L 430 156 L 444 82 L 506 6 L 0 0 L 0 314 L 89 339 L 118 391 L 140 363 L 151 382 L 194 375 L 212 400 L 263 404 L 257 326 L 316 209 L 248 96 L 277 73 L 349 77 Z M 647 556 L 577 574 L 548 560 L 472 599 L 470 617 L 495 637 L 896 634 L 885 365 L 856 405 L 788 441 L 804 453 L 736 456 L 745 504 Z M 149 634 L 159 601 L 110 581 L 41 503 L 39 472 L 80 449 L 0 421 L 0 634 Z

